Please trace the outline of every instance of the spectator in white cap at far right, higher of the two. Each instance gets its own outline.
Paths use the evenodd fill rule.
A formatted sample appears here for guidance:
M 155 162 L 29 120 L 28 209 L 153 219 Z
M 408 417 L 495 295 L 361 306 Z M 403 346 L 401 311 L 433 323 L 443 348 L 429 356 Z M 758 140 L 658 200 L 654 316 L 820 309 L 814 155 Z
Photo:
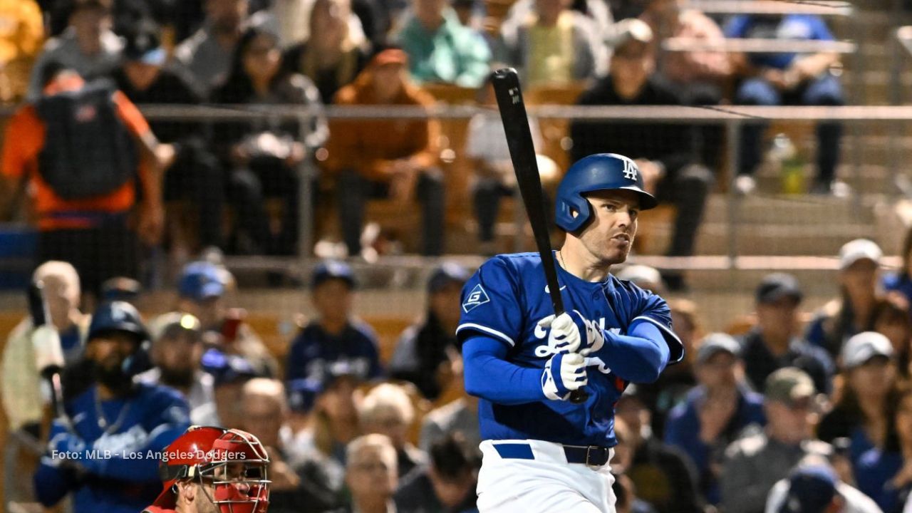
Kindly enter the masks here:
M 807 340 L 823 347 L 833 358 L 845 340 L 873 330 L 873 314 L 880 299 L 877 269 L 883 252 L 876 243 L 855 239 L 839 250 L 840 295 L 821 309 L 807 329 Z

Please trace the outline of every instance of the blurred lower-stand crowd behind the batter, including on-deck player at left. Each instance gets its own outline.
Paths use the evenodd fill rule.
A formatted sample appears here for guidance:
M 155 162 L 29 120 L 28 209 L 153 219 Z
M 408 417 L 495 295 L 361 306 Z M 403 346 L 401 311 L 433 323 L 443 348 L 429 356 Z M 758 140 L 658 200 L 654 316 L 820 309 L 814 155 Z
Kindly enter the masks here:
M 696 303 L 671 299 L 686 359 L 657 382 L 631 384 L 615 406 L 617 510 L 903 513 L 912 500 L 912 231 L 903 257 L 887 273 L 875 242 L 845 243 L 834 298 L 814 312 L 803 309 L 795 277 L 772 273 L 756 285 L 754 309 L 727 332 L 705 332 Z M 616 272 L 666 291 L 654 268 Z M 173 311 L 145 322 L 130 305 L 135 282 L 106 283 L 89 316 L 79 308 L 75 268 L 49 261 L 35 280 L 59 336 L 65 412 L 96 439 L 73 440 L 60 417 L 46 435 L 49 374 L 40 362 L 48 359 L 36 342 L 46 326 L 35 314 L 5 345 L 10 431 L 69 450 L 107 447 L 119 433 L 148 447 L 168 442 L 151 433 L 232 426 L 270 455 L 270 511 L 472 511 L 478 403 L 464 391 L 454 337 L 469 276 L 454 262 L 436 267 L 424 313 L 381 358 L 375 330 L 353 313 L 358 278 L 342 261 L 316 266 L 313 311 L 280 351 L 269 351 L 232 307 L 236 283 L 218 263 L 184 267 Z M 131 424 L 130 404 L 161 424 Z M 120 468 L 81 457 L 84 474 Z M 103 479 L 67 481 L 45 456 L 36 496 L 27 483 L 6 493 L 49 506 L 73 492 L 77 510 L 113 494 L 106 510 L 128 511 L 160 490 L 142 470 L 116 476 L 130 495 Z

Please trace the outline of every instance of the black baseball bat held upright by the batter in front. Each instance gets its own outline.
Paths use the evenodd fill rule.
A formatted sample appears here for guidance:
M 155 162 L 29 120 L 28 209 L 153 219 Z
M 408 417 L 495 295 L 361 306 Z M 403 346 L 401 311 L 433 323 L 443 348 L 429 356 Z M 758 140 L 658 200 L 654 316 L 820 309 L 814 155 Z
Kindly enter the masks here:
M 494 71 L 491 78 L 497 107 L 501 110 L 503 131 L 506 132 L 507 146 L 510 147 L 510 159 L 513 161 L 513 173 L 523 196 L 525 213 L 529 216 L 535 246 L 542 257 L 544 278 L 548 282 L 548 294 L 554 306 L 554 316 L 564 313 L 564 298 L 557 282 L 557 269 L 554 254 L 551 252 L 551 237 L 548 236 L 547 217 L 544 214 L 544 194 L 542 178 L 538 174 L 538 163 L 535 162 L 535 148 L 532 143 L 532 132 L 529 131 L 529 117 L 525 112 L 523 90 L 519 85 L 519 75 L 513 68 L 502 68 Z M 579 389 L 570 393 L 572 403 L 583 403 L 589 397 L 586 391 Z

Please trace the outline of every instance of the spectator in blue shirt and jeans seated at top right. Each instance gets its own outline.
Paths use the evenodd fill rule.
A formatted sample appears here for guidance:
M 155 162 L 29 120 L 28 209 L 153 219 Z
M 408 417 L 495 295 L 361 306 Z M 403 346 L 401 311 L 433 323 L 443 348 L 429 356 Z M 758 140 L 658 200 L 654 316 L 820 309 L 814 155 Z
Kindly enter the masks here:
M 832 41 L 824 20 L 813 15 L 739 15 L 725 27 L 726 37 L 777 40 Z M 741 105 L 842 105 L 843 89 L 830 71 L 839 64 L 836 53 L 752 53 L 733 58 L 741 83 L 735 102 Z M 741 129 L 738 173 L 751 176 L 762 158 L 765 125 L 747 123 Z M 812 192 L 829 194 L 839 163 L 842 125 L 817 125 L 817 176 Z M 748 187 L 746 190 L 749 190 Z

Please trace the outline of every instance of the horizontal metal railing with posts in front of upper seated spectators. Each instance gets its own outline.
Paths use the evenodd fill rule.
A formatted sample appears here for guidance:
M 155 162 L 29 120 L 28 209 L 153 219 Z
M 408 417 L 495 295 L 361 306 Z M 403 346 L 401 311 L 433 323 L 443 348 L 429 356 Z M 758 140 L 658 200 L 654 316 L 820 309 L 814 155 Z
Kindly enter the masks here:
M 473 115 L 486 112 L 475 106 L 448 106 L 435 105 L 431 108 L 422 107 L 339 107 L 328 106 L 325 109 L 304 108 L 297 105 L 275 105 L 267 107 L 238 107 L 238 106 L 140 106 L 140 109 L 149 120 L 194 120 L 219 122 L 228 120 L 297 120 L 300 128 L 300 137 L 306 136 L 310 121 L 314 116 L 325 115 L 332 119 L 364 119 L 364 120 L 393 120 L 393 119 L 422 119 L 433 118 L 438 120 L 469 120 Z M 0 115 L 9 115 L 11 108 L 0 110 Z M 844 107 L 749 107 L 749 106 L 716 106 L 716 107 L 668 107 L 668 106 L 609 106 L 609 107 L 583 107 L 583 106 L 558 106 L 544 105 L 531 106 L 529 114 L 539 120 L 617 120 L 624 122 L 663 122 L 688 125 L 720 125 L 724 127 L 726 145 L 724 148 L 723 168 L 730 173 L 725 180 L 731 180 L 734 170 L 738 169 L 738 155 L 740 152 L 741 127 L 748 123 L 770 121 L 797 121 L 816 122 L 820 120 L 840 121 L 847 125 L 876 122 L 877 124 L 894 124 L 912 121 L 912 106 L 844 106 Z M 461 148 L 455 149 L 461 152 Z M 858 149 L 855 148 L 857 152 Z M 893 159 L 893 169 L 902 170 L 900 162 L 905 162 L 898 155 Z M 860 183 L 860 168 L 851 166 L 854 170 L 855 183 Z M 315 176 L 316 166 L 313 160 L 307 159 L 298 168 L 300 183 L 300 227 L 298 255 L 291 259 L 254 258 L 246 260 L 255 265 L 285 265 L 309 262 L 314 243 L 313 213 L 314 205 L 311 198 L 311 177 Z M 756 262 L 748 263 L 744 255 L 739 254 L 739 205 L 741 196 L 736 194 L 733 186 L 728 186 L 726 201 L 728 204 L 727 236 L 728 244 L 725 255 L 717 256 L 710 260 L 690 260 L 689 257 L 663 258 L 663 267 L 667 268 L 693 268 L 695 262 L 711 267 L 752 267 Z M 860 204 L 860 194 L 855 188 L 856 202 Z M 721 258 L 720 258 L 721 257 Z M 658 258 L 658 257 L 657 257 Z M 239 260 L 234 260 L 241 265 Z M 722 264 L 724 262 L 724 265 Z M 772 262 L 772 261 L 771 261 Z M 814 264 L 816 266 L 817 264 Z

